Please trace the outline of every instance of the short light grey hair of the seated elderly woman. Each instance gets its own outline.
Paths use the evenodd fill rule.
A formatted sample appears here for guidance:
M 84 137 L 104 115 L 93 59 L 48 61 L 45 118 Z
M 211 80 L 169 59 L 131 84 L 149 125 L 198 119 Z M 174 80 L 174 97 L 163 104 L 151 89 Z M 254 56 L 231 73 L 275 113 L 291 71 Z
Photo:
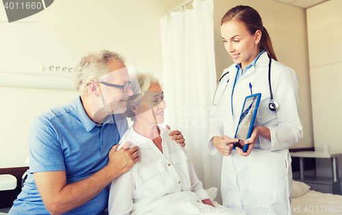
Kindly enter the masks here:
M 149 73 L 137 73 L 137 77 L 131 77 L 131 89 L 133 95 L 129 97 L 127 101 L 127 110 L 124 112 L 124 116 L 134 118 L 135 114 L 132 112 L 129 106 L 140 107 L 142 105 L 142 97 L 145 92 L 148 91 L 152 84 L 159 84 L 159 80 Z

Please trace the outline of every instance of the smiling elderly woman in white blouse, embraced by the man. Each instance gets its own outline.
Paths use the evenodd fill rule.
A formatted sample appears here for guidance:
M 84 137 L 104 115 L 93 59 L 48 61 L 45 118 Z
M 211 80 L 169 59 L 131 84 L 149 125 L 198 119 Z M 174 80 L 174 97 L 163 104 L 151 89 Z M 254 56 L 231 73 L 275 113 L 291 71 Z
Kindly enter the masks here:
M 126 112 L 134 123 L 119 144 L 139 146 L 141 158 L 128 173 L 111 182 L 109 214 L 205 214 L 205 209 L 215 210 L 185 149 L 168 136 L 170 130 L 157 126 L 163 123 L 166 108 L 158 80 L 140 73 L 137 81 L 139 84 L 132 84 L 133 92 L 136 86 L 141 93 L 129 97 Z M 123 146 L 125 142 L 132 144 Z

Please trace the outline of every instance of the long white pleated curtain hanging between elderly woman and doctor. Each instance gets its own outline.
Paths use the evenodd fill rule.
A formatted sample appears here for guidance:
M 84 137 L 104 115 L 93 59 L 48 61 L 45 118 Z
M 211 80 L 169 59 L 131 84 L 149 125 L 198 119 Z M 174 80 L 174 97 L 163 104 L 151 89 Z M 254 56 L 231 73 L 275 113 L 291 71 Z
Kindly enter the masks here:
M 205 188 L 220 188 L 222 156 L 207 152 L 210 105 L 216 88 L 213 0 L 161 18 L 163 91 L 171 129 L 185 136 L 187 153 Z M 220 201 L 220 199 L 219 199 Z

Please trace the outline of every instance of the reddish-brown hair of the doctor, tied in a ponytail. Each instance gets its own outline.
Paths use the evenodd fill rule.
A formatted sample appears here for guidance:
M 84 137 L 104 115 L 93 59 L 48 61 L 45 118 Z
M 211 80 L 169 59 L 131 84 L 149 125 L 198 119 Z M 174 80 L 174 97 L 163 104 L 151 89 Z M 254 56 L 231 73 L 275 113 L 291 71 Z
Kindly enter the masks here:
M 260 14 L 257 10 L 254 10 L 250 6 L 237 5 L 235 8 L 228 10 L 221 19 L 221 25 L 228 21 L 240 21 L 246 25 L 246 29 L 251 35 L 254 35 L 257 30 L 261 31 L 261 40 L 259 42 L 259 49 L 265 49 L 267 53 L 277 60 L 276 54 L 274 53 L 271 38 L 265 27 L 263 27 L 263 21 L 261 20 Z

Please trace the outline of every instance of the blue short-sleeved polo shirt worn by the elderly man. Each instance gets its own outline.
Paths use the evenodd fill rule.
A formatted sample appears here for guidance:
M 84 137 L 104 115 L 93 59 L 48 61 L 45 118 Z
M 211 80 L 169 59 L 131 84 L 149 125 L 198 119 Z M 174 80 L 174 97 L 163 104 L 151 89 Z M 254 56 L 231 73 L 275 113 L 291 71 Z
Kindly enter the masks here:
M 116 115 L 97 125 L 86 114 L 80 97 L 35 118 L 29 133 L 30 174 L 9 214 L 49 214 L 32 173 L 63 170 L 67 184 L 86 179 L 108 164 L 109 150 L 127 128 L 126 118 Z M 66 214 L 102 214 L 108 195 L 105 188 Z

